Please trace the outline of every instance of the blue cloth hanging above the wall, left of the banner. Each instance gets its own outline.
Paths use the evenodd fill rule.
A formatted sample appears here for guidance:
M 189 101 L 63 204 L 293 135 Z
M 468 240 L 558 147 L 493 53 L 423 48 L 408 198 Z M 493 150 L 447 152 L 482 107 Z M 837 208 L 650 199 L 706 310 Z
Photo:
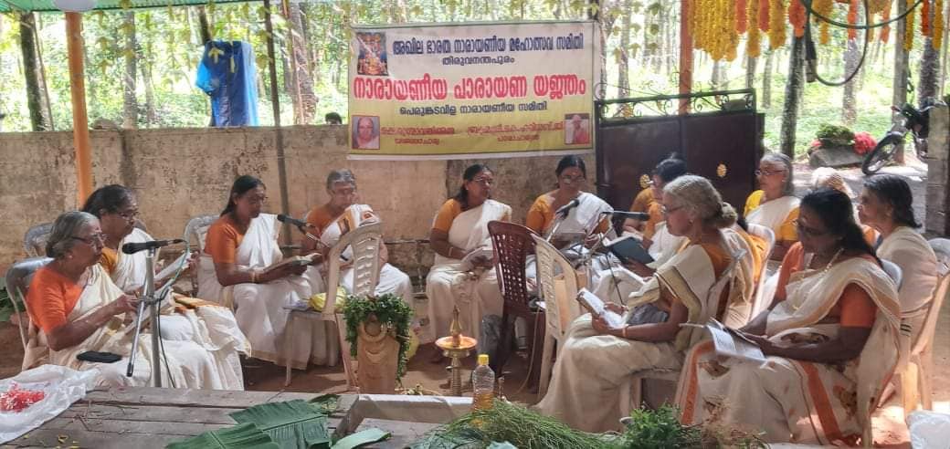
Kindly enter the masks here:
M 212 126 L 257 126 L 257 67 L 251 45 L 204 45 L 195 85 L 211 97 Z

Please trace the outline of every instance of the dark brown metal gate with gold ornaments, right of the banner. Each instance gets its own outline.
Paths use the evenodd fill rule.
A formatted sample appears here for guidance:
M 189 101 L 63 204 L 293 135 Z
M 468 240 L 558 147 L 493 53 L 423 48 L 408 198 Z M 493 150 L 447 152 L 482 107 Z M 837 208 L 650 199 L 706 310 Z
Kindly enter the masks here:
M 684 98 L 693 113 L 677 115 Z M 675 152 L 742 213 L 762 155 L 754 90 L 604 100 L 595 110 L 598 195 L 611 206 L 627 210 L 656 163 Z

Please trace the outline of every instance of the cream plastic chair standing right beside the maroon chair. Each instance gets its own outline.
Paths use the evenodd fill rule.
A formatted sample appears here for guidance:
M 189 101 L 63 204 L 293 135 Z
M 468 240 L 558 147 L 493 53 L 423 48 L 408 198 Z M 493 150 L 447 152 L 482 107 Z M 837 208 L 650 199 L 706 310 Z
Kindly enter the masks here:
M 532 235 L 532 238 L 537 253 L 538 284 L 544 300 L 544 346 L 538 385 L 538 397 L 543 398 L 551 382 L 555 345 L 560 351 L 567 327 L 581 313 L 577 302 L 578 278 L 571 262 L 543 237 Z M 563 289 L 559 289 L 561 286 Z

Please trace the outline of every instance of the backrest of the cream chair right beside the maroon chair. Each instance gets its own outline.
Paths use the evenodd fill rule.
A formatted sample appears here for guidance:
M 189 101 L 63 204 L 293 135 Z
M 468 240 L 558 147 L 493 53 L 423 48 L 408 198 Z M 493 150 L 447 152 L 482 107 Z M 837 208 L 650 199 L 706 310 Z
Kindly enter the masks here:
M 540 235 L 531 235 L 531 238 L 535 241 L 535 253 L 538 257 L 538 284 L 544 299 L 545 326 L 551 335 L 561 339 L 567 324 L 580 316 L 580 305 L 575 300 L 580 290 L 578 278 L 571 262 L 554 245 Z M 564 285 L 562 298 L 558 297 L 555 287 L 559 274 Z M 561 299 L 566 301 L 566 304 L 561 304 Z

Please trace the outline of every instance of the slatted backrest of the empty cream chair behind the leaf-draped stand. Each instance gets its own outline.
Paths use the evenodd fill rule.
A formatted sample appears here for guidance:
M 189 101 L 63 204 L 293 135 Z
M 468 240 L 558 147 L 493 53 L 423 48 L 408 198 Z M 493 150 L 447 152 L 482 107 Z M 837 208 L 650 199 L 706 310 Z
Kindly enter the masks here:
M 333 245 L 327 260 L 327 302 L 323 314 L 333 317 L 336 313 L 336 289 L 340 285 L 340 255 L 352 247 L 353 295 L 371 296 L 379 284 L 379 249 L 383 245 L 383 223 L 375 222 L 359 226 Z M 404 301 L 410 299 L 403 298 Z

